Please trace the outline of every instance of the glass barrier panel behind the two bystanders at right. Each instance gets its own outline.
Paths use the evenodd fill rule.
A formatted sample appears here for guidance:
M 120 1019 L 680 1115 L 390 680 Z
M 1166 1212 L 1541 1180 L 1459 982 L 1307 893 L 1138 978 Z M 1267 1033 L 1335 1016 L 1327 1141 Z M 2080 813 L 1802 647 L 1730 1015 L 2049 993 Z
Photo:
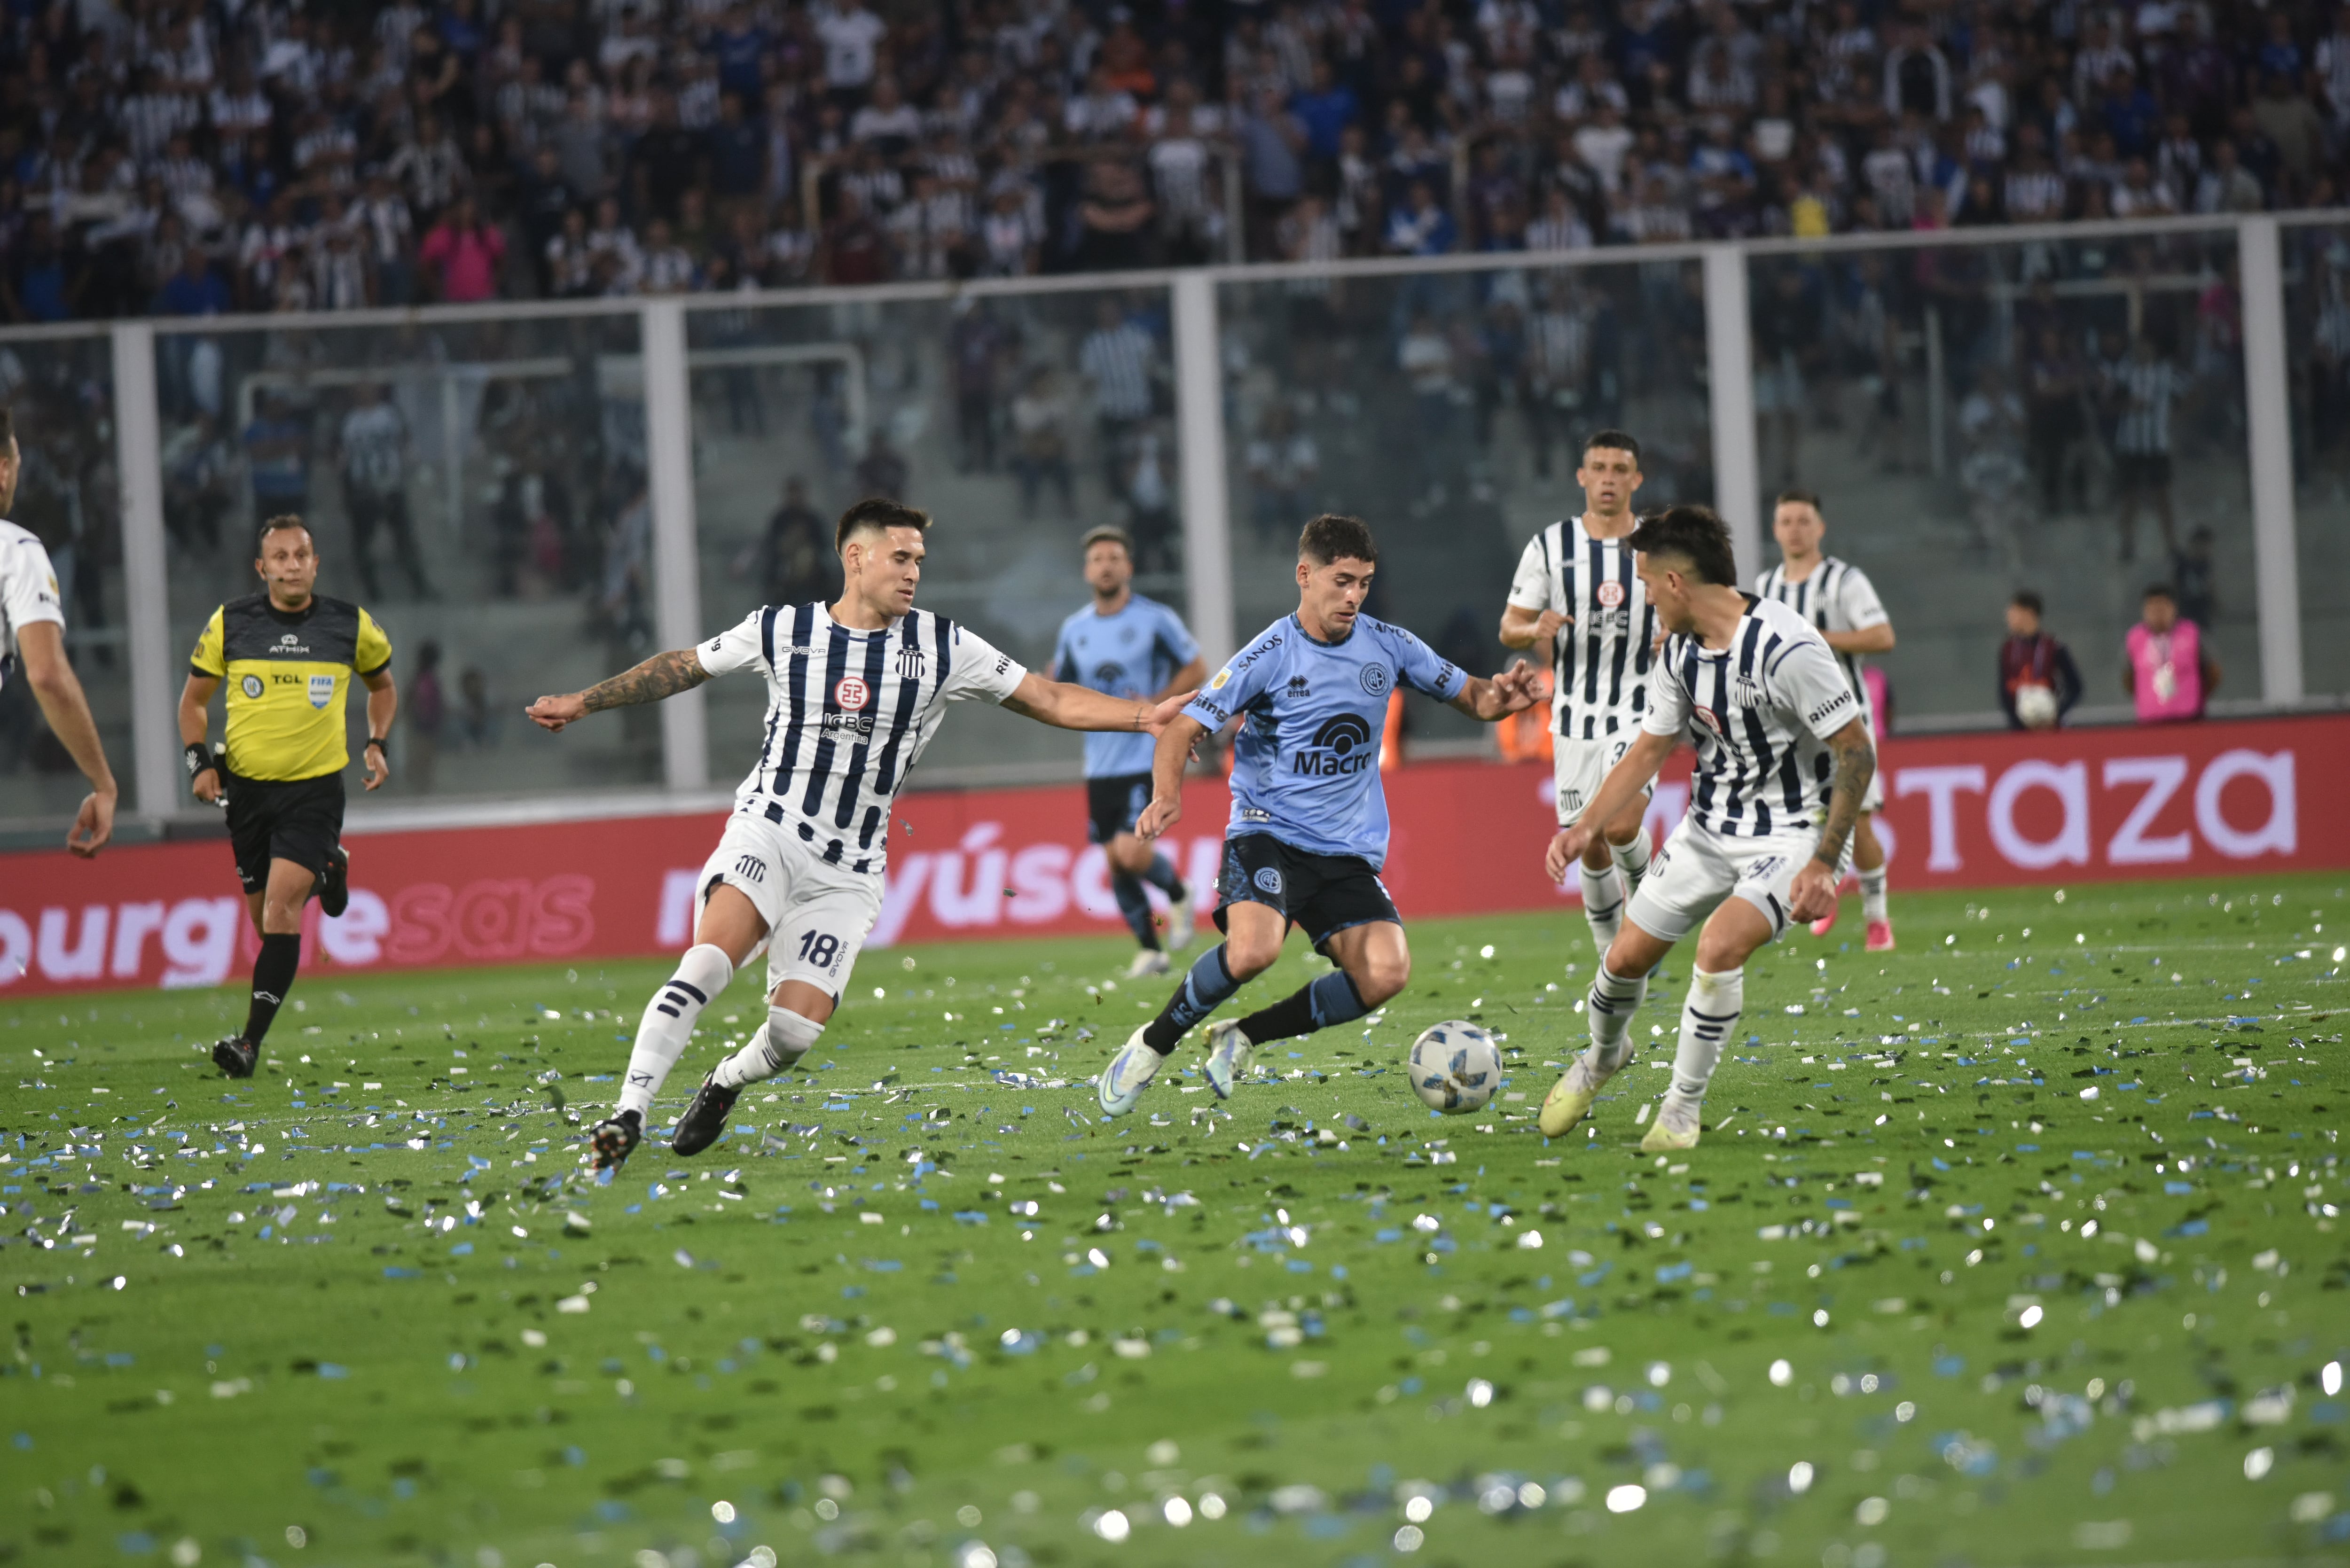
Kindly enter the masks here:
M 1748 320 L 1765 531 L 1779 491 L 1819 494 L 1821 548 L 1899 637 L 1873 661 L 1896 729 L 2007 722 L 2016 592 L 2042 597 L 2084 708 L 2129 712 L 2155 583 L 2221 696 L 2258 696 L 2232 228 L 1755 256 Z

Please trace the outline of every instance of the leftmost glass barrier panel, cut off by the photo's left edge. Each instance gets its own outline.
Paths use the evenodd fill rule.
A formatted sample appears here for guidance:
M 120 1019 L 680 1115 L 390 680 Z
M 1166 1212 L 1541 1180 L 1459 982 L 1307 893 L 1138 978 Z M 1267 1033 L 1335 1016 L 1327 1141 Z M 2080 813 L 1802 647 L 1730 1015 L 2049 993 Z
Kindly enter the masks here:
M 115 465 L 113 346 L 103 336 L 0 343 L 0 404 L 16 421 L 16 498 L 0 512 L 49 552 L 66 658 L 99 722 L 106 762 L 139 809 L 132 766 L 132 649 L 122 602 L 122 484 Z M 0 498 L 5 503 L 5 498 Z M 56 820 L 89 783 L 49 731 L 24 670 L 0 686 L 0 820 Z

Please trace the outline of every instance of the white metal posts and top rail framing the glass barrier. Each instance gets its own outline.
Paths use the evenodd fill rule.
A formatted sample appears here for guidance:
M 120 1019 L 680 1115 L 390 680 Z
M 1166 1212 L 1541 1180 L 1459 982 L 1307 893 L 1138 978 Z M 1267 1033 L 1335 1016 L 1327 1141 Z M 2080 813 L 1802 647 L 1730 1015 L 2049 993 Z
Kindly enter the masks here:
M 844 360 L 848 416 L 862 430 L 865 378 L 853 374 L 853 343 L 689 348 L 691 315 L 705 310 L 811 310 L 844 303 L 895 303 L 987 296 L 1102 294 L 1156 289 L 1170 299 L 1175 324 L 1175 407 L 1184 491 L 1184 576 L 1189 609 L 1210 656 L 1234 646 L 1231 621 L 1231 527 L 1229 470 L 1224 451 L 1224 383 L 1220 357 L 1220 299 L 1227 284 L 1278 284 L 1283 280 L 1401 277 L 1492 270 L 1607 268 L 1659 261 L 1697 261 L 1704 268 L 1708 400 L 1713 423 L 1716 498 L 1732 524 L 1739 569 L 1760 567 L 1758 442 L 1753 416 L 1753 364 L 1748 336 L 1748 266 L 1765 256 L 1833 256 L 1866 249 L 1922 249 L 1960 244 L 2080 242 L 2084 237 L 2129 240 L 2162 235 L 2235 235 L 2244 299 L 2247 442 L 2251 470 L 2254 557 L 2261 602 L 2261 693 L 2268 705 L 2305 703 L 2301 668 L 2301 602 L 2296 557 L 2296 505 L 2291 480 L 2291 400 L 2284 341 L 2282 230 L 2303 226 L 2350 226 L 2343 214 L 2282 214 L 2251 219 L 2146 219 L 2122 223 L 2042 223 L 1998 230 L 1925 230 L 1887 235 L 1835 235 L 1805 240 L 1746 240 L 1734 244 L 1692 242 L 1636 249 L 1513 252 L 1466 256 L 1377 256 L 1332 263 L 1224 263 L 1189 270 L 1149 270 L 1072 277 L 987 277 L 971 282 L 898 282 L 822 292 L 743 292 L 721 296 L 663 296 L 606 301 L 494 301 L 400 310 L 350 310 L 306 315 L 244 315 L 195 320 L 139 320 L 115 324 L 49 324 L 0 331 L 0 343 L 54 343 L 108 336 L 115 381 L 115 447 L 122 470 L 125 597 L 132 665 L 132 724 L 136 806 L 141 816 L 174 816 L 183 804 L 172 675 L 176 670 L 167 621 L 162 473 L 157 463 L 160 414 L 155 400 L 155 346 L 167 336 L 228 336 L 244 331 L 348 331 L 402 324 L 468 324 L 630 315 L 639 324 L 646 451 L 653 536 L 663 559 L 656 574 L 656 630 L 667 646 L 691 644 L 700 625 L 700 581 L 693 515 L 691 371 L 728 364 L 787 364 Z M 604 355 L 613 357 L 613 355 Z M 627 355 L 620 355 L 627 357 Z M 564 362 L 569 369 L 569 362 Z M 446 367 L 456 369 L 456 367 Z M 538 360 L 484 364 L 482 374 L 540 371 Z M 261 378 L 345 383 L 397 369 L 320 369 Z M 667 792 L 660 799 L 700 804 L 707 795 L 707 745 L 700 693 L 663 705 Z M 637 799 L 637 797 L 630 797 Z M 642 802 L 639 802 L 642 804 Z M 512 802 L 432 806 L 432 820 L 505 820 Z

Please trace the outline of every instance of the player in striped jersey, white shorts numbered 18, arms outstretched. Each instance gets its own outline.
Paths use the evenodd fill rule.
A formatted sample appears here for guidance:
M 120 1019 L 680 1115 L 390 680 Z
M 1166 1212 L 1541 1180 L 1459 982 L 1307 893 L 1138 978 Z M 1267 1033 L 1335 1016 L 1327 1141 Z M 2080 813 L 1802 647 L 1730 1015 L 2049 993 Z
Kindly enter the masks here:
M 792 1067 L 825 1032 L 881 912 L 891 806 L 947 703 L 987 698 L 1060 729 L 1140 733 L 1159 733 L 1182 708 L 1182 698 L 1152 705 L 1048 682 L 954 621 L 914 609 L 928 527 L 931 515 L 912 505 L 858 501 L 832 531 L 839 604 L 766 604 L 710 642 L 531 703 L 529 717 L 559 731 L 731 670 L 766 679 L 759 764 L 703 865 L 693 945 L 646 1004 L 620 1103 L 588 1138 L 599 1171 L 644 1140 L 644 1117 L 693 1020 L 761 947 L 766 1023 L 703 1079 L 670 1147 L 707 1150 L 743 1088 Z

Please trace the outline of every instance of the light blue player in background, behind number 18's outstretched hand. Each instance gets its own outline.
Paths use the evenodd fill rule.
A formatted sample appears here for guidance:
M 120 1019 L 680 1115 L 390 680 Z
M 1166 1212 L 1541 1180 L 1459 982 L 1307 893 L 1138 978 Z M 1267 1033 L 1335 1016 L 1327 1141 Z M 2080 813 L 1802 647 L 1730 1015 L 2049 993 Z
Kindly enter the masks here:
M 1135 541 L 1126 529 L 1090 529 L 1083 541 L 1086 585 L 1093 604 L 1060 623 L 1053 679 L 1093 686 L 1107 696 L 1168 698 L 1198 691 L 1208 665 L 1182 618 L 1159 599 L 1135 592 Z M 1088 837 L 1109 856 L 1109 896 L 1142 947 L 1128 976 L 1163 976 L 1144 884 L 1168 896 L 1168 947 L 1191 940 L 1191 889 L 1166 853 L 1135 837 L 1135 818 L 1152 804 L 1152 736 L 1086 736 Z

